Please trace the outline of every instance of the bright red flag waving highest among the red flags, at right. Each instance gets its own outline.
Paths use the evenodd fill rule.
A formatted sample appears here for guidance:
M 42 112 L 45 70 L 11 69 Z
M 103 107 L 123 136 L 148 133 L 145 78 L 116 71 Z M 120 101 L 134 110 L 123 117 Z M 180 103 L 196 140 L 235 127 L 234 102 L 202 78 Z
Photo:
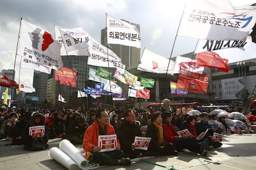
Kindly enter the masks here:
M 197 63 L 195 67 L 216 68 L 218 70 L 228 72 L 231 69 L 228 67 L 228 59 L 222 59 L 215 52 L 207 51 L 197 54 Z

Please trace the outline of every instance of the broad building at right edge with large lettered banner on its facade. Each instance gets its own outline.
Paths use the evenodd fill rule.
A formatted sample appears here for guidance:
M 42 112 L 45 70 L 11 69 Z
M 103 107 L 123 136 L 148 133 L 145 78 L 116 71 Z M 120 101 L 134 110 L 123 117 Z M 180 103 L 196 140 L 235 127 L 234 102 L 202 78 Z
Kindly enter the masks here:
M 242 60 L 228 65 L 231 68 L 228 73 L 211 69 L 210 98 L 216 105 L 247 107 L 256 97 L 256 60 Z

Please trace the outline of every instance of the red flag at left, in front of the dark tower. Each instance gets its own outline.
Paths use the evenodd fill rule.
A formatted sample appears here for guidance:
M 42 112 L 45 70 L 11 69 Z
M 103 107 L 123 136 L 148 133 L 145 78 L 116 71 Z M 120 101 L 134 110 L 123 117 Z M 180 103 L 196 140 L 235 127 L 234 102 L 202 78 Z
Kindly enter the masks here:
M 59 80 L 59 84 L 65 84 L 67 86 L 77 86 L 77 70 L 61 67 L 60 70 L 54 71 L 55 80 Z

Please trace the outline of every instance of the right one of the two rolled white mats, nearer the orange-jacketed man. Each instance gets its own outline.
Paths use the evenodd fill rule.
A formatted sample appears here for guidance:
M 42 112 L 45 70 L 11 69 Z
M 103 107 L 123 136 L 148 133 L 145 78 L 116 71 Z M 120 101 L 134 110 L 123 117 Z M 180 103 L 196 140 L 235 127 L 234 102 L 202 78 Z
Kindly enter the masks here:
M 88 161 L 85 159 L 82 153 L 69 142 L 69 140 L 62 140 L 59 143 L 59 149 L 62 150 L 62 152 L 66 153 L 66 155 L 69 156 L 72 160 L 74 160 L 75 163 L 80 166 L 80 168 L 87 168 Z

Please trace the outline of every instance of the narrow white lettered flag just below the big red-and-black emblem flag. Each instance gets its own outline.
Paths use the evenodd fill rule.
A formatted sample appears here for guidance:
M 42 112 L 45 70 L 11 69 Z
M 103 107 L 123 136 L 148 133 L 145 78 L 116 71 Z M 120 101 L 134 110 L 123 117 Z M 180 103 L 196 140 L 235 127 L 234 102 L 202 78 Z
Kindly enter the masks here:
M 47 67 L 46 65 L 41 65 L 38 62 L 34 62 L 33 60 L 26 59 L 24 57 L 21 57 L 20 67 L 21 68 L 32 68 L 33 70 L 40 71 L 42 73 L 51 74 L 51 67 Z

